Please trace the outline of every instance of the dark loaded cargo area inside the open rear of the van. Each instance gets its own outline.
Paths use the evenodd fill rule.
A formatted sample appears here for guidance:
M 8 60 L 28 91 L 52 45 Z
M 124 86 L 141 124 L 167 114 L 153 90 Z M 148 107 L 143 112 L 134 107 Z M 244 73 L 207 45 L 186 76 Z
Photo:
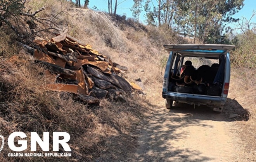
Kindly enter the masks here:
M 190 52 L 174 53 L 168 78 L 168 91 L 221 96 L 225 76 L 225 55 L 194 57 L 191 53 L 186 53 Z

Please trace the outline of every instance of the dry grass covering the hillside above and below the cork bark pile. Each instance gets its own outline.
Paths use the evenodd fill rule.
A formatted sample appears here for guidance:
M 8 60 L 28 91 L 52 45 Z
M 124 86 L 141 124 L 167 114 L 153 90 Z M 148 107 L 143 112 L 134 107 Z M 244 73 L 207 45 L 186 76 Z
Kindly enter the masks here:
M 128 29 L 121 30 L 104 13 L 72 8 L 71 3 L 57 0 L 47 3 L 31 0 L 26 5 L 32 8 L 32 12 L 45 6 L 46 10 L 40 12 L 39 17 L 55 17 L 53 23 L 68 28 L 69 35 L 92 44 L 94 49 L 111 57 L 112 61 L 127 66 L 129 71 L 124 74 L 125 77 L 129 80 L 140 77 L 147 98 L 135 95 L 123 101 L 102 100 L 99 105 L 88 106 L 73 100 L 70 94 L 46 91 L 43 87 L 47 78 L 43 69 L 33 64 L 24 51 L 20 51 L 14 43 L 15 34 L 7 33 L 11 30 L 2 30 L 1 27 L 0 134 L 4 137 L 17 131 L 26 134 L 63 131 L 71 134 L 71 158 L 34 157 L 33 160 L 37 161 L 125 159 L 135 150 L 137 140 L 132 132 L 144 112 L 150 109 L 149 100 L 150 103 L 162 104 L 160 60 L 166 52 L 159 51 L 160 45 L 154 43 L 157 38 L 145 31 L 131 28 L 130 32 L 135 35 L 129 38 Z M 38 24 L 36 29 L 45 29 L 48 25 Z M 48 31 L 36 35 L 52 37 Z M 26 157 L 8 157 L 11 152 L 5 147 L 0 160 L 29 160 Z M 25 152 L 30 152 L 29 148 Z

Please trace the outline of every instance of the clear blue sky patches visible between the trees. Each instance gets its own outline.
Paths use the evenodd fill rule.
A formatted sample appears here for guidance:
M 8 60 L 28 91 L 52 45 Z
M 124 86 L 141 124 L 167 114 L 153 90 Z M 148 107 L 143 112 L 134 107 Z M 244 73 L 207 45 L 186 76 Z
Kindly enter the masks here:
M 126 15 L 126 17 L 132 17 L 130 8 L 133 5 L 133 0 L 118 0 L 118 3 L 120 4 L 118 5 L 117 14 Z M 108 11 L 107 0 L 90 0 L 89 8 L 93 8 L 93 6 L 96 6 L 97 9 L 100 11 L 105 11 L 105 12 Z M 244 0 L 244 7 L 238 13 L 236 13 L 233 17 L 234 18 L 246 17 L 246 19 L 249 20 L 251 15 L 253 14 L 253 10 L 256 11 L 256 0 Z M 144 20 L 145 20 L 144 14 L 145 12 L 142 12 L 142 14 L 140 15 L 140 22 L 142 23 L 144 23 Z M 254 19 L 252 21 L 256 23 L 256 16 L 254 16 Z M 236 28 L 237 24 L 232 23 L 232 24 L 229 24 L 229 26 L 232 28 Z

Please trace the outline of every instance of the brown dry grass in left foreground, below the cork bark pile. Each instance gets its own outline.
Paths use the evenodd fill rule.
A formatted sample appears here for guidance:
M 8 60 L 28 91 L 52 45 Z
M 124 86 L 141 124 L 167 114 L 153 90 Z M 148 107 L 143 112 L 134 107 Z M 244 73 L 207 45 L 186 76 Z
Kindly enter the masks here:
M 18 131 L 28 137 L 30 132 L 70 133 L 71 158 L 33 157 L 35 161 L 115 160 L 125 158 L 134 150 L 136 138 L 131 132 L 149 107 L 146 100 L 134 96 L 124 101 L 102 100 L 100 105 L 88 106 L 73 100 L 70 94 L 46 91 L 43 68 L 33 64 L 30 57 L 12 43 L 14 34 L 3 32 L 1 39 L 4 41 L 0 57 L 0 134 L 5 137 L 5 143 L 10 133 Z M 122 144 L 118 144 L 121 141 Z M 0 160 L 29 160 L 8 157 L 11 152 L 5 146 Z M 24 152 L 30 152 L 29 145 Z

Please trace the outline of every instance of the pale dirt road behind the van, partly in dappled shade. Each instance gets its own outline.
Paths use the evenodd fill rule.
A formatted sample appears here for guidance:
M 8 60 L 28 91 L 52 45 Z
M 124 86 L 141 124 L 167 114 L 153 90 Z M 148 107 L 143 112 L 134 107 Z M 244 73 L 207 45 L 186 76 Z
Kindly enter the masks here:
M 239 161 L 240 140 L 234 119 L 228 118 L 234 101 L 228 99 L 221 114 L 187 104 L 152 111 L 139 128 L 138 151 L 131 161 Z

